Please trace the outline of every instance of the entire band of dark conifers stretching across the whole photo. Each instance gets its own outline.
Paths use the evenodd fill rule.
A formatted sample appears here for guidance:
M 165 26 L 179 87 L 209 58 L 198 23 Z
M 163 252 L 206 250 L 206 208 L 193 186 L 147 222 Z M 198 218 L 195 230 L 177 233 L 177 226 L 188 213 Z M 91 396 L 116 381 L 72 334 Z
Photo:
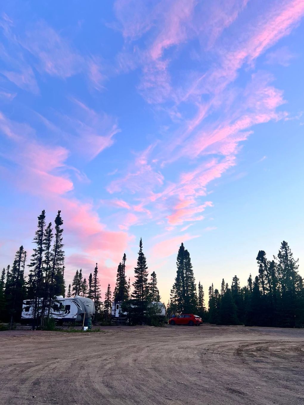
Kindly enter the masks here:
M 118 264 L 116 285 L 105 287 L 104 300 L 98 277 L 98 264 L 85 277 L 77 269 L 72 284 L 64 281 L 63 220 L 58 211 L 54 224 L 46 224 L 45 211 L 38 217 L 33 238 L 32 255 L 21 245 L 12 265 L 4 267 L 0 277 L 0 321 L 19 322 L 24 300 L 34 302 L 36 326 L 47 324 L 56 296 L 86 296 L 94 301 L 96 319 L 111 320 L 112 301 L 123 302 L 124 310 L 133 323 L 147 321 L 148 303 L 161 301 L 156 273 L 148 271 L 139 242 L 134 281 L 126 278 L 126 254 Z M 304 326 L 304 284 L 298 272 L 298 259 L 283 241 L 277 256 L 268 260 L 263 250 L 256 257 L 257 274 L 249 275 L 246 286 L 240 286 L 235 275 L 231 284 L 223 278 L 220 290 L 212 284 L 208 290 L 208 307 L 201 281 L 195 282 L 190 253 L 180 245 L 176 258 L 176 277 L 167 304 L 167 318 L 180 313 L 195 313 L 204 322 L 247 326 Z M 102 276 L 102 275 L 101 275 Z M 150 277 L 150 278 L 149 278 Z M 151 311 L 151 309 L 150 309 Z M 150 314 L 157 318 L 157 313 Z M 152 322 L 152 324 L 154 324 Z

